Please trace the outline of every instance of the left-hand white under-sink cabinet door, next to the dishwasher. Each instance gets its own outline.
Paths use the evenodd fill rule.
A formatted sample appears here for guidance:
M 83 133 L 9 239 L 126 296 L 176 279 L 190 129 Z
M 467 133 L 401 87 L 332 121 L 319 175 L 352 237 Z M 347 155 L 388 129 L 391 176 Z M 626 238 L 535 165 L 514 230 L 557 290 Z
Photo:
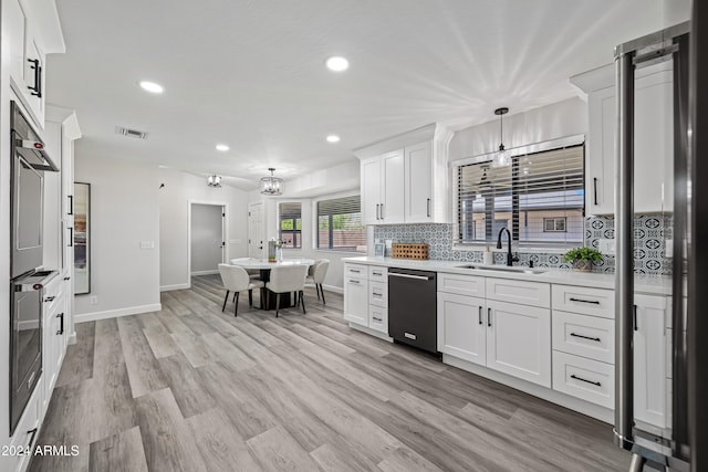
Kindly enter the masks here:
M 438 350 L 486 365 L 485 300 L 438 292 Z

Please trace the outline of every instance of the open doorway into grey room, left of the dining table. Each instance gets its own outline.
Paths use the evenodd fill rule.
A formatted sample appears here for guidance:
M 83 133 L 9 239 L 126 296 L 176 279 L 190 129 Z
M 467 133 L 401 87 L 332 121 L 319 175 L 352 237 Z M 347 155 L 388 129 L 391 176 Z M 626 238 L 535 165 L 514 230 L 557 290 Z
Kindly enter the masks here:
M 219 272 L 226 258 L 226 207 L 191 203 L 189 221 L 189 274 L 207 275 Z

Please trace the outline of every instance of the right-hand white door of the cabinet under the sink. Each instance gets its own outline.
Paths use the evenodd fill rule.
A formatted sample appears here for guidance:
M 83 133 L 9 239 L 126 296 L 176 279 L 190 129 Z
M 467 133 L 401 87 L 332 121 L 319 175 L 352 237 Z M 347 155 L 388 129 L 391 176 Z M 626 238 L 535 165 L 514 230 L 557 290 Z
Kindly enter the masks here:
M 487 301 L 487 367 L 551 387 L 551 312 Z

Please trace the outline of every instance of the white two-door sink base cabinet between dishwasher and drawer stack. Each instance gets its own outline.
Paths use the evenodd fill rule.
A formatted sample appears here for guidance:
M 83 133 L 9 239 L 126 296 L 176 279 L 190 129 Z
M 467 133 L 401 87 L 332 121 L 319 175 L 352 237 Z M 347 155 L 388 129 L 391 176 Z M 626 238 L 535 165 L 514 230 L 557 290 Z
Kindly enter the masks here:
M 438 350 L 550 387 L 549 306 L 549 284 L 439 274 Z

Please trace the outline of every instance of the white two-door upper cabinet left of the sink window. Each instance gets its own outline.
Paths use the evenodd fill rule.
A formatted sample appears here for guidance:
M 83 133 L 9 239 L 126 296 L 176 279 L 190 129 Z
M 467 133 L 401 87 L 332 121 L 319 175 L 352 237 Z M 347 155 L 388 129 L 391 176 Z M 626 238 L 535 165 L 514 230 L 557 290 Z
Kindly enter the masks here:
M 435 124 L 354 150 L 361 159 L 366 224 L 447 223 L 447 149 Z

